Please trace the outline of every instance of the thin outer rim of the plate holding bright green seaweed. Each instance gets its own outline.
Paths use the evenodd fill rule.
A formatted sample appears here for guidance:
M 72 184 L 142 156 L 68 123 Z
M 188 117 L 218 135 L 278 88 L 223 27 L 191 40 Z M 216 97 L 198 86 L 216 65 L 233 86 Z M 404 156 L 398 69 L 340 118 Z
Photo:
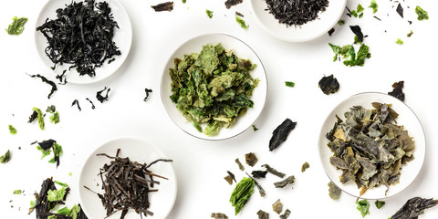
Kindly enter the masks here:
M 196 135 L 192 134 L 190 131 L 183 129 L 183 127 L 181 127 L 181 126 L 177 123 L 176 120 L 173 120 L 173 118 L 172 118 L 172 116 L 171 116 L 169 110 L 166 108 L 166 106 L 165 106 L 165 104 L 164 104 L 164 102 L 165 102 L 166 100 L 164 99 L 165 97 L 164 97 L 164 94 L 163 94 L 163 89 L 164 89 L 164 88 L 163 88 L 163 79 L 164 79 L 164 74 L 166 74 L 166 72 L 168 72 L 168 69 L 167 69 L 167 65 L 168 65 L 168 63 L 169 63 L 173 58 L 175 58 L 174 55 L 176 54 L 176 52 L 179 51 L 179 50 L 180 50 L 185 44 L 187 44 L 188 42 L 191 42 L 191 41 L 193 41 L 193 40 L 195 40 L 195 39 L 197 39 L 197 38 L 208 37 L 208 36 L 226 36 L 226 37 L 231 37 L 231 38 L 233 38 L 233 39 L 239 41 L 239 42 L 242 43 L 243 45 L 245 45 L 245 47 L 248 47 L 248 48 L 252 51 L 252 53 L 255 55 L 255 57 L 257 57 L 258 61 L 260 62 L 260 65 L 261 65 L 261 67 L 262 67 L 263 75 L 264 75 L 265 78 L 266 78 L 266 91 L 265 91 L 265 94 L 264 94 L 264 95 L 265 95 L 265 98 L 263 99 L 263 106 L 261 107 L 260 113 L 258 113 L 258 115 L 255 117 L 255 120 L 252 121 L 251 124 L 254 124 L 255 121 L 258 120 L 258 119 L 260 118 L 260 116 L 261 116 L 263 110 L 265 110 L 265 107 L 266 107 L 266 99 L 267 99 L 268 90 L 269 90 L 269 83 L 268 83 L 268 78 L 267 78 L 267 74 L 266 74 L 266 68 L 265 68 L 265 66 L 264 66 L 264 64 L 263 64 L 263 62 L 262 62 L 262 59 L 261 59 L 261 58 L 255 53 L 255 50 L 254 50 L 252 47 L 250 47 L 248 44 L 246 44 L 243 40 L 239 39 L 238 37 L 235 37 L 235 36 L 232 36 L 232 35 L 229 35 L 229 34 L 224 34 L 224 33 L 214 32 L 214 33 L 205 33 L 205 34 L 201 34 L 201 35 L 192 36 L 192 37 L 189 37 L 188 39 L 185 39 L 185 40 L 183 41 L 183 43 L 181 43 L 178 47 L 176 47 L 176 49 L 173 49 L 173 50 L 172 50 L 172 54 L 171 54 L 171 56 L 169 56 L 169 58 L 168 58 L 167 61 L 165 62 L 165 64 L 164 64 L 164 68 L 163 68 L 163 70 L 162 70 L 162 77 L 160 78 L 160 97 L 161 97 L 161 99 L 162 99 L 162 107 L 163 107 L 164 110 L 166 111 L 167 116 L 172 120 L 172 122 L 173 122 L 173 123 L 174 123 L 174 124 L 180 129 L 180 130 L 183 130 L 185 133 L 189 134 L 190 136 L 192 136 L 192 137 L 194 137 L 194 138 L 196 138 L 196 139 L 206 140 L 206 141 L 224 141 L 224 140 L 232 139 L 232 138 L 234 138 L 234 137 L 236 137 L 236 136 L 242 134 L 243 132 L 245 132 L 245 130 L 248 130 L 248 129 L 251 127 L 251 125 L 249 125 L 248 127 L 246 127 L 244 130 L 241 130 L 241 131 L 235 133 L 234 135 L 231 135 L 231 136 L 228 136 L 228 137 L 225 137 L 225 138 L 210 138 L 209 136 L 207 136 L 207 135 L 205 135 L 205 134 L 202 135 L 202 137 L 201 137 L 201 136 L 196 136 Z M 243 116 L 245 116 L 245 115 L 243 115 Z M 189 122 L 189 121 L 187 121 L 187 122 Z

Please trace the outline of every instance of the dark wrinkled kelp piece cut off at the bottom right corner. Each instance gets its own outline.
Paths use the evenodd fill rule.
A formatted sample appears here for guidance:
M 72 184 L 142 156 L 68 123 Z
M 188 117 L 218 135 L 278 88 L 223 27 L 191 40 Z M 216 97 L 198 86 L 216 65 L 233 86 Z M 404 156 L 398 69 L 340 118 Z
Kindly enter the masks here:
M 434 207 L 438 200 L 413 197 L 403 204 L 401 209 L 391 216 L 391 219 L 417 219 L 427 208 Z

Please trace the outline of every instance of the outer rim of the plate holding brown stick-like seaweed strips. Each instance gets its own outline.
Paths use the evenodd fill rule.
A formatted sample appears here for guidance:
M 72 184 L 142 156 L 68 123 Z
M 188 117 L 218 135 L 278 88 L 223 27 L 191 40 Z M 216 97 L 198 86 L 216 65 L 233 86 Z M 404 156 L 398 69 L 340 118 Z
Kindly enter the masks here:
M 89 160 L 93 157 L 93 154 L 96 154 L 96 152 L 99 151 L 101 148 L 103 148 L 105 145 L 107 145 L 107 144 L 109 144 L 109 143 L 111 143 L 113 141 L 126 141 L 126 140 L 128 140 L 128 141 L 139 141 L 139 142 L 141 142 L 141 144 L 147 145 L 153 151 L 157 152 L 159 155 L 162 156 L 162 158 L 168 158 L 167 155 L 164 154 L 158 147 L 156 147 L 155 145 L 151 144 L 149 141 L 145 141 L 145 140 L 143 140 L 141 138 L 138 138 L 138 137 L 121 136 L 121 137 L 111 138 L 110 140 L 107 140 L 107 141 L 100 141 L 100 143 L 97 144 L 98 146 L 95 147 L 94 149 L 92 149 L 92 151 L 89 152 L 89 154 L 87 154 L 87 157 L 85 158 L 85 160 L 82 160 L 82 162 L 81 162 L 82 163 L 82 167 L 80 167 L 79 177 L 78 177 L 78 181 L 76 183 L 77 190 L 78 190 L 78 202 L 81 203 L 81 209 L 84 211 L 85 214 L 91 215 L 91 214 L 88 214 L 87 210 L 82 207 L 82 206 L 84 206 L 84 205 L 82 205 L 82 203 L 84 203 L 84 202 L 82 201 L 83 197 L 82 197 L 82 195 L 80 193 L 81 188 L 83 187 L 83 185 L 81 185 L 81 180 L 82 180 L 82 177 L 83 177 L 82 175 L 83 175 L 84 169 L 86 168 L 87 162 L 89 162 Z M 178 178 L 177 178 L 177 175 L 176 175 L 176 172 L 175 172 L 175 168 L 173 167 L 173 163 L 168 163 L 168 164 L 170 165 L 170 168 L 171 168 L 172 179 L 174 179 L 173 180 L 174 183 L 172 183 L 173 184 L 172 187 L 174 188 L 175 193 L 174 193 L 174 195 L 172 195 L 173 196 L 172 197 L 172 201 L 171 201 L 172 203 L 170 204 L 169 211 L 166 214 L 163 214 L 164 217 L 167 217 L 169 214 L 172 213 L 172 209 L 173 209 L 173 207 L 174 207 L 174 205 L 176 203 L 176 198 L 178 196 Z

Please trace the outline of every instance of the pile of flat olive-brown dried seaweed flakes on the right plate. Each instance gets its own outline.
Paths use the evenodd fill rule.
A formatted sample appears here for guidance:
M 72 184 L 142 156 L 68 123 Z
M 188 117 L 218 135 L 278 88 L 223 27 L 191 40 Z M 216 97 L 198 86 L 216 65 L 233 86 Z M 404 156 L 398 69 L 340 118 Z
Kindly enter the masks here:
M 326 137 L 334 152 L 330 163 L 342 170 L 341 183 L 354 181 L 363 192 L 381 184 L 399 183 L 401 165 L 414 159 L 415 148 L 407 130 L 396 125 L 391 105 L 374 102 L 374 110 L 356 106 L 335 123 Z

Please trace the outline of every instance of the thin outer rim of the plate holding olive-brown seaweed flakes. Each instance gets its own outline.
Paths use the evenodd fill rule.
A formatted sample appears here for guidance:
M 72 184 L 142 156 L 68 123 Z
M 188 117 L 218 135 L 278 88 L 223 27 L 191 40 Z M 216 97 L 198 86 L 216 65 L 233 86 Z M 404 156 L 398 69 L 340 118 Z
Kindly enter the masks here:
M 418 124 L 419 124 L 419 128 L 420 128 L 420 131 L 419 131 L 419 136 L 422 136 L 422 140 L 424 141 L 423 142 L 423 144 L 422 144 L 422 148 L 423 148 L 423 152 L 421 153 L 421 162 L 419 163 L 419 169 L 418 169 L 418 172 L 415 172 L 414 174 L 413 174 L 413 176 L 412 176 L 412 181 L 411 182 L 409 182 L 409 183 L 407 183 L 405 186 L 404 186 L 404 188 L 402 188 L 400 191 L 398 191 L 397 193 L 389 193 L 389 194 L 382 194 L 381 196 L 382 197 L 378 197 L 378 198 L 375 198 L 375 197 L 367 197 L 367 193 L 364 193 L 363 195 L 358 195 L 358 194 L 354 194 L 354 193 L 349 193 L 348 191 L 346 191 L 345 190 L 345 188 L 343 188 L 343 186 L 339 186 L 339 185 L 342 185 L 341 183 L 339 183 L 339 182 L 335 182 L 334 181 L 334 179 L 332 179 L 331 177 L 330 177 L 330 175 L 328 174 L 328 170 L 327 170 L 327 168 L 326 168 L 326 165 L 324 164 L 324 162 L 322 161 L 322 151 L 321 151 L 321 148 L 322 148 L 322 146 L 321 146 L 321 138 L 323 138 L 322 136 L 322 133 L 323 133 L 323 129 L 324 129 L 324 125 L 326 124 L 326 122 L 328 121 L 328 119 L 329 119 L 329 116 L 340 106 L 340 105 L 342 105 L 342 104 L 344 104 L 345 102 L 347 102 L 349 99 L 352 99 L 352 98 L 355 98 L 355 97 L 358 97 L 358 96 L 360 96 L 360 95 L 382 95 L 382 96 L 385 96 L 385 97 L 389 97 L 390 99 L 394 99 L 395 101 L 398 101 L 398 102 L 400 102 L 402 105 L 404 105 L 404 107 L 406 107 L 408 110 L 410 110 L 411 112 L 412 112 L 412 115 L 415 117 L 415 120 L 416 121 L 418 121 Z M 426 154 L 426 150 L 427 150 L 427 147 L 426 147 L 426 145 L 427 145 L 427 139 L 426 139 L 426 135 L 425 135 L 425 132 L 424 132 L 424 128 L 423 128 L 423 125 L 422 125 L 422 121 L 420 120 L 420 118 L 417 116 L 417 114 L 415 113 L 415 111 L 413 111 L 410 107 L 409 107 L 409 105 L 407 105 L 404 101 L 401 101 L 400 99 L 397 99 L 397 98 L 395 98 L 395 97 L 392 97 L 391 95 L 389 95 L 389 94 L 386 94 L 386 93 L 383 93 L 383 92 L 376 92 L 376 91 L 366 91 L 366 92 L 360 92 L 360 93 L 357 93 L 357 94 L 354 94 L 354 95 L 351 95 L 351 96 L 349 96 L 348 98 L 346 98 L 346 99 L 342 99 L 341 101 L 339 101 L 339 103 L 332 109 L 332 110 L 330 110 L 329 112 L 328 112 L 328 114 L 326 115 L 326 119 L 324 120 L 324 122 L 320 125 L 320 127 L 319 127 L 319 136 L 318 136 L 318 160 L 319 160 L 319 163 L 322 165 L 322 169 L 324 170 L 324 172 L 325 172 L 325 174 L 327 175 L 327 177 L 328 177 L 328 180 L 330 181 L 330 182 L 333 182 L 333 183 L 335 183 L 338 187 L 339 187 L 339 189 L 343 192 L 343 193 L 348 193 L 349 195 L 351 195 L 351 196 L 353 196 L 353 197 L 356 197 L 356 198 L 360 198 L 360 199 L 367 199 L 367 200 L 378 200 L 378 199 L 386 199 L 386 198 L 390 198 L 391 196 L 394 196 L 394 195 L 396 195 L 396 194 L 398 194 L 398 193 L 401 193 L 401 192 L 403 192 L 404 190 L 406 190 L 408 187 L 410 187 L 411 185 L 412 185 L 412 183 L 413 182 L 415 182 L 415 180 L 418 178 L 418 176 L 419 176 L 419 174 L 420 174 L 420 172 L 422 172 L 422 168 L 423 168 L 423 165 L 424 165 L 424 160 L 425 160 L 425 154 Z M 324 135 L 325 136 L 325 135 Z M 326 145 L 326 147 L 327 147 L 327 145 Z M 415 153 L 416 154 L 416 153 Z M 415 158 L 417 158 L 417 156 L 415 156 Z M 419 157 L 420 158 L 420 157 Z M 333 167 L 334 168 L 334 167 Z M 381 185 L 381 186 L 383 186 L 383 185 Z M 390 185 L 390 189 L 391 189 L 391 185 Z M 360 192 L 360 189 L 358 189 L 357 190 L 357 192 Z

